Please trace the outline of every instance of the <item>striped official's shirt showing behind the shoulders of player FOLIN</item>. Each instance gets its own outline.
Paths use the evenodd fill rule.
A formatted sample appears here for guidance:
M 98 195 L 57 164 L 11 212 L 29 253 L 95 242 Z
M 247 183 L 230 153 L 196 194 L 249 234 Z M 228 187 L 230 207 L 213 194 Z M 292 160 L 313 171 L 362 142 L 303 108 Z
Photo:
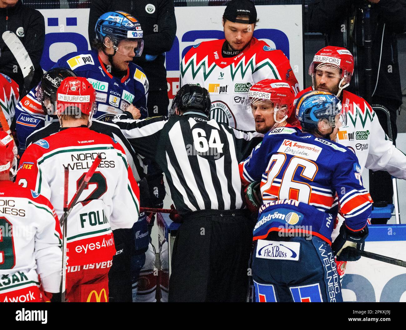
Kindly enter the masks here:
M 132 148 L 131 144 L 127 141 L 124 137 L 121 130 L 112 123 L 102 122 L 100 120 L 92 120 L 92 125 L 90 126 L 91 130 L 94 130 L 98 133 L 106 134 L 112 139 L 116 140 L 120 145 L 123 147 L 125 154 L 127 156 L 128 164 L 132 169 L 132 173 L 134 174 L 134 178 L 136 181 L 144 178 L 146 175 L 146 169 L 144 168 L 144 163 L 140 155 L 137 155 L 134 149 Z M 26 141 L 26 146 L 30 145 L 31 143 L 35 143 L 38 140 L 44 139 L 45 137 L 49 137 L 60 130 L 60 124 L 58 119 L 55 119 L 47 126 L 32 132 Z

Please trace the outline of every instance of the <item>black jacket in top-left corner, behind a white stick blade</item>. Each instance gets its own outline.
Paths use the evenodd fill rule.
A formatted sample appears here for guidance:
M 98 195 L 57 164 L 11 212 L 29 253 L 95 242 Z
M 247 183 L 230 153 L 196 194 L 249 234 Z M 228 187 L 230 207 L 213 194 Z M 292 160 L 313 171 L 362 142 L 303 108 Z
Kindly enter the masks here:
M 25 6 L 21 1 L 17 2 L 14 7 L 0 8 L 0 72 L 17 82 L 20 87 L 20 98 L 22 98 L 25 95 L 21 95 L 24 78 L 11 50 L 9 50 L 3 38 L 1 38 L 1 35 L 5 31 L 12 31 L 19 37 L 34 65 L 34 78 L 31 85 L 26 86 L 26 90 L 30 91 L 32 87 L 37 86 L 43 74 L 39 61 L 41 60 L 45 41 L 44 17 L 39 11 Z M 14 72 L 15 66 L 17 67 L 17 72 Z

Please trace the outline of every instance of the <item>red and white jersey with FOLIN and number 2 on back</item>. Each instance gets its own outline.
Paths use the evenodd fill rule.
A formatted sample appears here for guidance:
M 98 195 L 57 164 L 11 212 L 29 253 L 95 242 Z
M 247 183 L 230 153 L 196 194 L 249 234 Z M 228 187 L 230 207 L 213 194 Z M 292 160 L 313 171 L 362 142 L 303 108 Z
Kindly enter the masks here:
M 138 221 L 139 189 L 121 145 L 87 127 L 65 128 L 31 144 L 17 173 L 19 185 L 49 198 L 63 215 L 64 168 L 69 169 L 71 201 L 94 159 L 102 161 L 68 217 L 68 265 L 111 260 L 112 230 Z

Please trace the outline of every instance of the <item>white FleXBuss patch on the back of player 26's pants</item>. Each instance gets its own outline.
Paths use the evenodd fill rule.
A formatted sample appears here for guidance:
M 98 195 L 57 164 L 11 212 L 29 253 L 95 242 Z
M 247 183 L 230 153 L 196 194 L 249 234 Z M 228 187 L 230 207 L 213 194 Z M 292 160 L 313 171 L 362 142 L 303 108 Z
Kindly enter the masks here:
M 298 261 L 299 253 L 299 242 L 257 241 L 257 258 Z

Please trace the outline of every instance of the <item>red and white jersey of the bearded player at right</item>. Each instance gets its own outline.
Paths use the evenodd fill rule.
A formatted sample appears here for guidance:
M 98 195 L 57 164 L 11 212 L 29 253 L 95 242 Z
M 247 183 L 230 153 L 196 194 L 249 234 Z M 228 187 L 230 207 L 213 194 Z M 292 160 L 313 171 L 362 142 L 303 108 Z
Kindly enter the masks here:
M 309 87 L 298 93 L 295 104 L 303 93 L 312 90 L 313 87 Z M 361 171 L 365 167 L 373 171 L 383 170 L 406 180 L 406 155 L 389 140 L 372 107 L 349 91 L 343 90 L 342 93 L 347 124 L 340 127 L 336 141 L 356 154 Z

